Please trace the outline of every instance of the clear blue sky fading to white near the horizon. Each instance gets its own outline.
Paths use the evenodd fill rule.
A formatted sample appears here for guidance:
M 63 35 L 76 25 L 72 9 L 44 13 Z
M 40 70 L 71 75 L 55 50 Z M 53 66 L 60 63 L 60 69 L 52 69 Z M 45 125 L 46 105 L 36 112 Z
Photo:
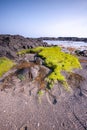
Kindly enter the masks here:
M 0 0 L 0 34 L 87 37 L 87 0 Z

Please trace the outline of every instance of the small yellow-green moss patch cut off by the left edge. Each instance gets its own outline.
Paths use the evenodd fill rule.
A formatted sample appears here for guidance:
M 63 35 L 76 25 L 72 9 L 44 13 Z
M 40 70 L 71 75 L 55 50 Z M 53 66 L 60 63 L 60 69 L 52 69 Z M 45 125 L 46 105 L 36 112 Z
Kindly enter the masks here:
M 13 61 L 6 57 L 0 58 L 0 77 L 14 65 Z

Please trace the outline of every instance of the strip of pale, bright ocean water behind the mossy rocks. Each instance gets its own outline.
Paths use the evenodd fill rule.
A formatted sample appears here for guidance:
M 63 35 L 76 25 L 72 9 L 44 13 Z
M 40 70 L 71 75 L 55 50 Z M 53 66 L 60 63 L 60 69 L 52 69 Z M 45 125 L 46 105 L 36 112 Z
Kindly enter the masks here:
M 43 40 L 44 42 L 47 42 L 50 45 L 58 45 L 58 46 L 64 46 L 64 47 L 74 47 L 81 50 L 87 50 L 87 43 L 86 42 L 76 42 L 76 41 L 59 41 L 59 40 Z

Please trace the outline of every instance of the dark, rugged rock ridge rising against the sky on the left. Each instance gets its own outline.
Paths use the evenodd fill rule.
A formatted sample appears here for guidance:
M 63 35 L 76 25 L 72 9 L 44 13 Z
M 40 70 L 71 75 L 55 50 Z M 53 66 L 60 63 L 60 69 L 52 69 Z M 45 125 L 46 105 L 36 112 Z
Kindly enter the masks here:
M 40 39 L 24 38 L 20 35 L 0 35 L 0 56 L 7 56 L 13 59 L 17 57 L 17 51 L 36 46 L 48 45 Z

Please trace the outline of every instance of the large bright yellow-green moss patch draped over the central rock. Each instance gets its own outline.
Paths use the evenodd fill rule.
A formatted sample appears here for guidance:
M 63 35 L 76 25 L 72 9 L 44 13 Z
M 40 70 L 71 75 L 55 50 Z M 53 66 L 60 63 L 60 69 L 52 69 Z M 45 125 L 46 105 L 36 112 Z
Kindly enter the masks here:
M 49 88 L 52 88 L 55 81 L 61 81 L 65 88 L 68 88 L 67 80 L 62 71 L 71 72 L 73 69 L 81 68 L 77 57 L 66 54 L 61 51 L 60 47 L 36 47 L 26 50 L 25 53 L 37 53 L 38 56 L 44 59 L 46 66 L 52 69 L 52 73 L 46 78 Z

